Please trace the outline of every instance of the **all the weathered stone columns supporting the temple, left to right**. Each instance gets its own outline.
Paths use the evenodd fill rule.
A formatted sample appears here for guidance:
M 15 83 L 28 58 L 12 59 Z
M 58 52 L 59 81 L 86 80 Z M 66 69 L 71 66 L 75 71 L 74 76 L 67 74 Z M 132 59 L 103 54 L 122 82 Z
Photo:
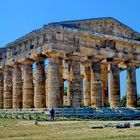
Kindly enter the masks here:
M 22 68 L 15 64 L 0 73 L 0 108 L 44 108 L 62 107 L 64 81 L 62 59 L 51 57 L 47 75 L 43 61 L 36 62 L 36 76 L 33 85 L 32 64 Z M 68 82 L 68 100 L 72 107 L 80 107 L 82 102 L 80 60 L 70 63 L 71 81 Z M 34 87 L 35 86 L 35 87 Z M 127 69 L 127 107 L 136 107 L 135 67 Z M 94 62 L 85 67 L 84 105 L 95 108 L 108 105 L 108 65 Z M 120 107 L 120 75 L 117 64 L 110 64 L 110 107 Z

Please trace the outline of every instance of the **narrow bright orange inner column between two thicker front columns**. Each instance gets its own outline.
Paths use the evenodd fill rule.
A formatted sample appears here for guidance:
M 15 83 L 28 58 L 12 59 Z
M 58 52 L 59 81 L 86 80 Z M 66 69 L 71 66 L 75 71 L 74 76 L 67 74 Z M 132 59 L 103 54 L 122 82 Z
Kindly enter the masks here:
M 108 64 L 102 64 L 102 106 L 108 105 Z

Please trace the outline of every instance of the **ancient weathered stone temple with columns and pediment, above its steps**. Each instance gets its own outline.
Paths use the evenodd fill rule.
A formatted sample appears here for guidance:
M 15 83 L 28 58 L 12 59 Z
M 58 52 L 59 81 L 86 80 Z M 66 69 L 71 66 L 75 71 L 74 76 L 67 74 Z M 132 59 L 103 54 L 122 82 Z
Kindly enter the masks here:
M 135 108 L 139 66 L 140 34 L 114 18 L 50 23 L 0 48 L 0 108 L 63 107 L 66 80 L 69 106 L 119 108 L 124 69 Z

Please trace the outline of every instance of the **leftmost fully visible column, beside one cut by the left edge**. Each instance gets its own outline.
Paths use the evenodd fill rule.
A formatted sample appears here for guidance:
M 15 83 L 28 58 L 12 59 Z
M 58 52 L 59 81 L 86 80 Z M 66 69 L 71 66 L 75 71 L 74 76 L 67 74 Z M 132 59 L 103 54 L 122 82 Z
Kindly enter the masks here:
M 12 72 L 11 69 L 6 67 L 4 70 L 4 109 L 11 109 L 12 104 Z

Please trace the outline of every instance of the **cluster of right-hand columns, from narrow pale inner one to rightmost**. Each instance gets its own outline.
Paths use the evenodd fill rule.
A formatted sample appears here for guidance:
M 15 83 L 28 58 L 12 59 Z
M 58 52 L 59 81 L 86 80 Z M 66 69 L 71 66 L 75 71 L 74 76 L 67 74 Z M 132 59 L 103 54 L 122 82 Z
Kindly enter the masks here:
M 108 104 L 108 65 L 94 62 L 91 67 L 85 67 L 84 106 L 100 108 L 107 107 Z M 128 66 L 127 107 L 135 108 L 136 105 L 136 71 L 134 66 Z M 120 107 L 120 70 L 118 64 L 110 64 L 110 107 Z

